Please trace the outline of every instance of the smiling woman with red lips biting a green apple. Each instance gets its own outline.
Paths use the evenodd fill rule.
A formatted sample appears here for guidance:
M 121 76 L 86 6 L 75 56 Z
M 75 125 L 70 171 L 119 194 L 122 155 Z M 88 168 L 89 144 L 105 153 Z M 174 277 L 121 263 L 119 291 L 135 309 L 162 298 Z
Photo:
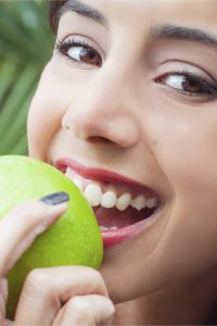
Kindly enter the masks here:
M 29 155 L 97 198 L 104 260 L 31 272 L 15 325 L 215 323 L 217 2 L 59 0 L 50 18 Z M 15 230 L 4 220 L 2 321 L 8 268 L 65 208 L 22 204 Z

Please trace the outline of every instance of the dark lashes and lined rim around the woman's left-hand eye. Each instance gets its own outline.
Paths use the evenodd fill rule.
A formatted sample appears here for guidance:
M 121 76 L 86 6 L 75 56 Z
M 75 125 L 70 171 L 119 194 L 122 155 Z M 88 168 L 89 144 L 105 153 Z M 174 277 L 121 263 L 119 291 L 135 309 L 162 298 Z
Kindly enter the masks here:
M 76 59 L 69 57 L 69 54 L 67 53 L 67 51 L 71 48 L 79 48 L 79 47 L 84 48 L 84 50 L 92 51 L 92 54 L 97 54 L 98 55 L 99 61 L 94 62 L 94 63 L 86 63 L 84 61 L 79 61 L 79 60 L 76 60 Z M 66 59 L 75 62 L 76 64 L 89 64 L 89 65 L 97 65 L 97 66 L 101 66 L 102 65 L 101 55 L 86 40 L 75 40 L 75 39 L 66 39 L 66 40 L 63 40 L 63 41 L 58 40 L 56 45 L 55 45 L 55 50 L 59 53 L 61 53 L 62 55 L 64 55 Z

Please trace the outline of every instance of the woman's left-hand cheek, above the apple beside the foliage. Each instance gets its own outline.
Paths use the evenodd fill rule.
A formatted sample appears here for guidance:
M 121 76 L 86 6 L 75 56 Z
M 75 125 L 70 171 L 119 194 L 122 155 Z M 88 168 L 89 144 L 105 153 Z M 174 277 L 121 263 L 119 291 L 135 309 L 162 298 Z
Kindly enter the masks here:
M 84 84 L 76 76 L 72 78 L 68 71 L 62 72 L 62 66 L 52 60 L 41 75 L 27 122 L 30 156 L 46 161 L 49 143 L 61 128 L 65 112 L 84 98 Z

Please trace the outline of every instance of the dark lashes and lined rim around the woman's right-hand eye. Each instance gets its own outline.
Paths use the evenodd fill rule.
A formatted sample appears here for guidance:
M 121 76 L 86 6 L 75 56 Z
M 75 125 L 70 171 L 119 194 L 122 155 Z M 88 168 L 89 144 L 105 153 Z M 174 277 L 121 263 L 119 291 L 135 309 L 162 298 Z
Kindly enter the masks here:
M 155 79 L 155 83 L 162 84 L 162 80 L 166 80 L 166 78 L 171 76 L 183 76 L 189 83 L 193 83 L 194 85 L 197 85 L 203 89 L 201 92 L 196 91 L 184 91 L 180 90 L 178 88 L 173 88 L 171 86 L 165 86 L 173 88 L 176 92 L 179 92 L 184 96 L 189 97 L 209 97 L 209 98 L 217 98 L 217 83 L 209 83 L 205 78 L 192 74 L 189 71 L 171 71 L 169 73 L 166 73 Z

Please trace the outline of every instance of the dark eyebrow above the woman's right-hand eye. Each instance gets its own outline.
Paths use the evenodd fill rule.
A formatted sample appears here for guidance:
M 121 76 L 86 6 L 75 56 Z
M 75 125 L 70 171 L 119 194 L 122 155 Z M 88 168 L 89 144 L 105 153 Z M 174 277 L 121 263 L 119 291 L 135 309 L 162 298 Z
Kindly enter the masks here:
M 197 28 L 189 28 L 168 24 L 152 26 L 149 32 L 149 38 L 151 40 L 173 39 L 194 41 L 217 48 L 217 36 L 215 35 Z

